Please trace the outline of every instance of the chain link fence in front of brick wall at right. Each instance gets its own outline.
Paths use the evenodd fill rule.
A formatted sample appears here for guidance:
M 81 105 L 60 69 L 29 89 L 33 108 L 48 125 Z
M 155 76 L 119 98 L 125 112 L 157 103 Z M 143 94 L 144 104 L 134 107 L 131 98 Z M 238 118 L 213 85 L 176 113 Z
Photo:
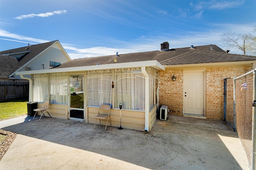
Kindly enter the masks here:
M 255 163 L 252 161 L 253 88 L 256 88 L 253 87 L 253 71 L 224 79 L 224 121 L 237 132 L 250 167 Z

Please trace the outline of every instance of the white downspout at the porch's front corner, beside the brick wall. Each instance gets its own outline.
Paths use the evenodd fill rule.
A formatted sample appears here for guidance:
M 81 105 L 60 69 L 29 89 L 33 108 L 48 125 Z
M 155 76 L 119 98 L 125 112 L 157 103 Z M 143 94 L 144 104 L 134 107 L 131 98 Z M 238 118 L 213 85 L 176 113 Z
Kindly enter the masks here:
M 149 76 L 146 67 L 141 67 L 141 72 L 145 76 L 145 131 L 149 130 Z

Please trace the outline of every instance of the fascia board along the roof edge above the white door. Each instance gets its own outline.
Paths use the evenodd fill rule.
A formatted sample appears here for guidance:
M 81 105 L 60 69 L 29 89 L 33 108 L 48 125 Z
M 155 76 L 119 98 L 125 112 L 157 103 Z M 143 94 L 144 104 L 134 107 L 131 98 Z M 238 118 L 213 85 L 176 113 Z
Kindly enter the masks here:
M 249 65 L 256 63 L 256 60 L 251 61 L 230 61 L 230 62 L 216 62 L 216 63 L 198 63 L 198 64 L 178 64 L 178 65 L 165 65 L 165 68 L 186 68 L 186 67 L 224 67 L 235 65 Z

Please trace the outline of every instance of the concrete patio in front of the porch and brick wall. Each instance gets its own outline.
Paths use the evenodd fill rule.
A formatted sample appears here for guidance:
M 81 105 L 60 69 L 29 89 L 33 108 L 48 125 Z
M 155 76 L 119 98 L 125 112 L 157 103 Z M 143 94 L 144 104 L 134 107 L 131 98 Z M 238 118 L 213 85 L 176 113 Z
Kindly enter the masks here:
M 175 169 L 246 170 L 238 135 L 222 121 L 170 116 L 151 132 L 42 117 L 0 121 L 19 133 L 0 170 Z

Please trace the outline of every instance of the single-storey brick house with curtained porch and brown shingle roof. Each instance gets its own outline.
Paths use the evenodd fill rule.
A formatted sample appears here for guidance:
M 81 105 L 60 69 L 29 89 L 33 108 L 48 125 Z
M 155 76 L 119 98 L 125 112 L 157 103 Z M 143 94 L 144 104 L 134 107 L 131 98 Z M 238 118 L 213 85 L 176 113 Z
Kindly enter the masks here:
M 171 115 L 223 119 L 224 78 L 242 75 L 255 63 L 256 56 L 217 45 L 170 49 L 164 42 L 159 51 L 74 59 L 17 74 L 32 76 L 30 101 L 41 107 L 50 100 L 54 117 L 94 123 L 98 107 L 109 104 L 112 126 L 120 126 L 121 114 L 122 127 L 148 132 L 161 105 Z

